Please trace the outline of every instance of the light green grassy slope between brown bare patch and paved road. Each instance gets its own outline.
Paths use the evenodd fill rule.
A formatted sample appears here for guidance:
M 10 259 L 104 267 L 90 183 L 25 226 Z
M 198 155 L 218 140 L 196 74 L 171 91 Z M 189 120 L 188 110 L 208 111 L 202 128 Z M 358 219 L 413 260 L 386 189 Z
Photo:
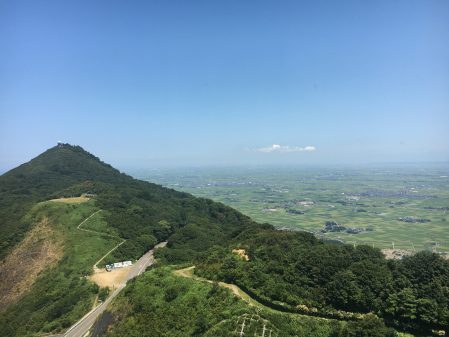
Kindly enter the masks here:
M 84 276 L 89 275 L 93 264 L 118 242 L 77 229 L 78 224 L 95 211 L 94 201 L 81 204 L 48 201 L 37 204 L 25 216 L 24 221 L 30 227 L 47 219 L 48 227 L 62 244 L 62 255 L 57 264 L 46 266 L 34 279 L 29 279 L 28 290 L 1 312 L 2 336 L 61 331 L 92 308 L 99 289 Z M 33 260 L 22 258 L 20 263 L 27 270 L 35 268 Z M 1 272 L 13 274 L 16 269 L 17 266 L 12 266 Z M 7 286 L 14 289 L 14 283 Z

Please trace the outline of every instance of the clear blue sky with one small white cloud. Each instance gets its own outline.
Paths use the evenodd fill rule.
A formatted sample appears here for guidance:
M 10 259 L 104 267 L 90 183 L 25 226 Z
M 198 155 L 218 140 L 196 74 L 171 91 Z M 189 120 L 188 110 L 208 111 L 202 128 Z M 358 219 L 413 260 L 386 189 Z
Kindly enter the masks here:
M 449 2 L 1 1 L 0 169 L 449 160 Z

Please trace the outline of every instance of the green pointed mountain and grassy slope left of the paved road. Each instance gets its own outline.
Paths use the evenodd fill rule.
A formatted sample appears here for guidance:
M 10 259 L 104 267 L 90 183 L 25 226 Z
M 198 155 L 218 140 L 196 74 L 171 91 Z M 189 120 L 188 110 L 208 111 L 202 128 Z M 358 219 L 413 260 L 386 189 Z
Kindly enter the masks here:
M 86 193 L 92 198 L 85 203 L 48 201 Z M 107 235 L 76 228 L 97 210 L 101 213 L 84 228 Z M 1 313 L 2 336 L 61 331 L 85 314 L 99 291 L 85 276 L 122 239 L 126 242 L 103 263 L 136 259 L 184 227 L 185 233 L 195 228 L 192 235 L 207 237 L 188 250 L 174 247 L 167 259 L 189 260 L 245 228 L 258 226 L 222 204 L 121 174 L 81 147 L 68 144 L 51 148 L 0 177 L 0 275 L 15 272 L 14 263 L 6 262 L 15 261 L 11 254 L 44 218 L 63 247 L 62 256 L 33 277 L 27 276 L 26 291 Z M 33 268 L 30 262 L 28 269 Z M 11 298 L 8 285 L 3 289 Z

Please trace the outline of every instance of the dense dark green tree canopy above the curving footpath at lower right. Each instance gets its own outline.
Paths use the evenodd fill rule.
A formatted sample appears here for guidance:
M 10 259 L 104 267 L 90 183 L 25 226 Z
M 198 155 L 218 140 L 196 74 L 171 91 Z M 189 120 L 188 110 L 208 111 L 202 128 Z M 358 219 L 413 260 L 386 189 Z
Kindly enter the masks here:
M 249 261 L 231 252 L 246 249 Z M 261 300 L 323 316 L 375 313 L 410 331 L 447 329 L 449 262 L 430 252 L 387 261 L 368 246 L 325 243 L 308 233 L 257 230 L 197 261 L 196 272 Z

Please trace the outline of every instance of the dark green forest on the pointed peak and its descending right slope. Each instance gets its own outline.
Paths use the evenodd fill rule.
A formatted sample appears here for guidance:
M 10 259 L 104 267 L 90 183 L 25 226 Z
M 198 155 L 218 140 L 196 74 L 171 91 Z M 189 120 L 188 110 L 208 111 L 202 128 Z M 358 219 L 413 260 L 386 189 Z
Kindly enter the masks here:
M 205 226 L 216 242 L 254 225 L 230 207 L 135 180 L 81 147 L 63 144 L 0 176 L 0 257 L 29 230 L 23 216 L 35 203 L 82 193 L 95 194 L 97 206 L 109 211 L 108 223 L 132 239 L 117 252 L 123 257 L 140 256 L 186 224 Z

